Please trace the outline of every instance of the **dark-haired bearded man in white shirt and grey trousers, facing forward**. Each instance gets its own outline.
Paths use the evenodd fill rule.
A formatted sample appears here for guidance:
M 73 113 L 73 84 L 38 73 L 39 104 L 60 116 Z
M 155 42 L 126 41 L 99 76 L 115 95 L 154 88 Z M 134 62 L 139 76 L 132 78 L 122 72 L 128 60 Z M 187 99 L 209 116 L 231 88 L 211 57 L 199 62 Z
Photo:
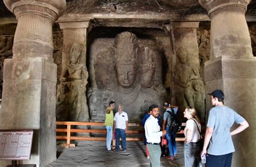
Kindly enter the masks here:
M 145 122 L 145 136 L 147 139 L 147 149 L 150 154 L 150 165 L 160 166 L 161 148 L 160 137 L 166 134 L 166 130 L 160 131 L 157 117 L 159 116 L 159 107 L 151 105 L 149 107 L 150 117 Z

